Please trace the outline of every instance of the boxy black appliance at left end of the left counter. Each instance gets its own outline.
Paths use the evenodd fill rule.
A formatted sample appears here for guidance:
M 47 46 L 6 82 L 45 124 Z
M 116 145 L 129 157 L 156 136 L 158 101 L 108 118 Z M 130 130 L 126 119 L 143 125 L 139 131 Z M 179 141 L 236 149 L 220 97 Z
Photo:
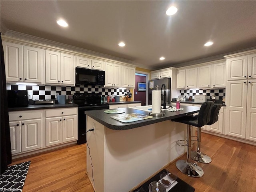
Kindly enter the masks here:
M 28 106 L 27 90 L 7 90 L 8 107 L 26 107 Z

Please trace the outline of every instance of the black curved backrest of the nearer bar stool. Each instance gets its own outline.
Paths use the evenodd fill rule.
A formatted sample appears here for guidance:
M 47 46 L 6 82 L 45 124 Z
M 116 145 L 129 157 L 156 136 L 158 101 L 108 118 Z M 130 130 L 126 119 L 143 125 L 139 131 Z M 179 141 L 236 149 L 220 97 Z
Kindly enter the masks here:
M 198 113 L 198 127 L 206 125 L 211 118 L 211 108 L 213 101 L 203 102 Z

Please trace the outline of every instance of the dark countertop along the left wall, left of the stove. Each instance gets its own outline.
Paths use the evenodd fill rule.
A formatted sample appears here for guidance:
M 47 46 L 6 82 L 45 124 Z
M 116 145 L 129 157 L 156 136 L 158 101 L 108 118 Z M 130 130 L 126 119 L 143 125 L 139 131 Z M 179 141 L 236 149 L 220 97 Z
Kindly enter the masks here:
M 27 107 L 8 108 L 8 111 L 24 111 L 24 110 L 38 110 L 38 109 L 57 109 L 78 107 L 77 104 L 55 104 L 55 105 L 28 105 Z

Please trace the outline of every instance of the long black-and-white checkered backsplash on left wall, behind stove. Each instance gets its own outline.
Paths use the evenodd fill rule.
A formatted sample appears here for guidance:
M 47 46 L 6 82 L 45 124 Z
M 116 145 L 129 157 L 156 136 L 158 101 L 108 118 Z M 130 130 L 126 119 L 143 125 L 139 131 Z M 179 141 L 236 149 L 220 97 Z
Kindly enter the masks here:
M 73 95 L 74 93 L 99 93 L 103 96 L 122 95 L 129 89 L 101 88 L 99 86 L 42 86 L 42 85 L 16 85 L 6 84 L 7 90 L 32 90 L 32 100 L 55 99 L 55 94 Z

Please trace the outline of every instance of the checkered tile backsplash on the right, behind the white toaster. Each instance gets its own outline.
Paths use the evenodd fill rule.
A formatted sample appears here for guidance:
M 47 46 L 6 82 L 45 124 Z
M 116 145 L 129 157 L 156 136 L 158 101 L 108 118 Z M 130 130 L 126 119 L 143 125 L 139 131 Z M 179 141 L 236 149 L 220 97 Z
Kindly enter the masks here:
M 216 100 L 222 99 L 226 95 L 226 89 L 199 89 L 199 90 L 180 90 L 180 95 L 187 96 L 189 98 L 192 96 L 192 99 L 194 99 L 194 95 L 206 95 L 206 96 L 212 96 L 215 95 Z

